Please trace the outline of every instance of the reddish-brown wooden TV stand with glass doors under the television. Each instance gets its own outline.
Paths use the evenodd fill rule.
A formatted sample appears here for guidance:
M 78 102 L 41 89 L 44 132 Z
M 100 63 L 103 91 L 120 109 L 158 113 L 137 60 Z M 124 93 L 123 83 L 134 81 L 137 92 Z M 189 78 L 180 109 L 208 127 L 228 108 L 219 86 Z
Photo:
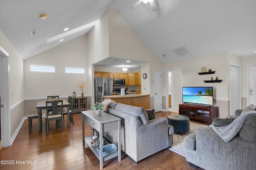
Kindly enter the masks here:
M 219 107 L 183 103 L 179 105 L 179 114 L 192 120 L 212 123 L 216 117 L 219 117 Z

